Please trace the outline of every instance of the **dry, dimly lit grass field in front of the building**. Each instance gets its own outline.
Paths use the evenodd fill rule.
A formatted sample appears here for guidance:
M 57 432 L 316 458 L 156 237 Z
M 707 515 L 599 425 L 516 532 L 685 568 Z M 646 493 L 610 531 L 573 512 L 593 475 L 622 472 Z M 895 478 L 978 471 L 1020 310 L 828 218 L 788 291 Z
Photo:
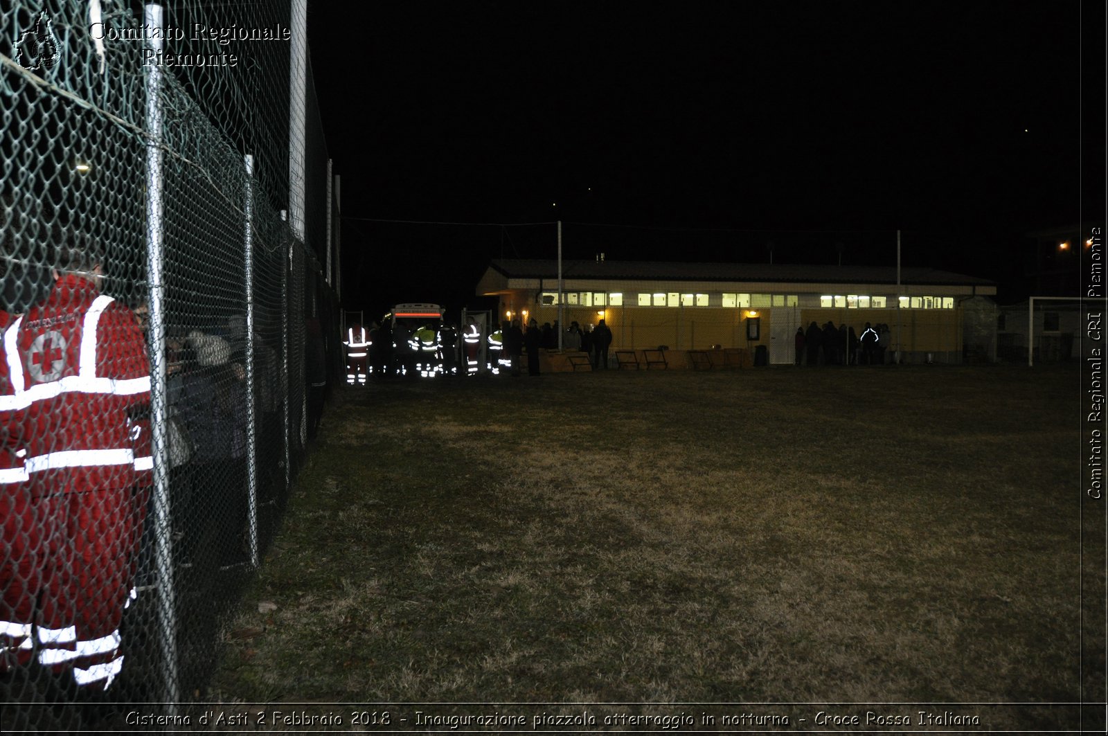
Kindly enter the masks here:
M 1104 642 L 1080 624 L 1079 399 L 1076 367 L 1014 366 L 342 390 L 209 695 L 1102 693 Z M 1066 718 L 1002 708 L 988 728 Z

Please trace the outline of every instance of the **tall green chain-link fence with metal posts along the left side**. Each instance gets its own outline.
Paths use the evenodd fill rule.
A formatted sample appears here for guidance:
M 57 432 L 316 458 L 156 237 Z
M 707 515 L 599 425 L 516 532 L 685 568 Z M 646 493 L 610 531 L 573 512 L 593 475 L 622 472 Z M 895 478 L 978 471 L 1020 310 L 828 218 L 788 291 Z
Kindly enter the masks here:
M 338 205 L 302 0 L 10 4 L 0 726 L 81 729 L 203 696 L 340 367 Z

